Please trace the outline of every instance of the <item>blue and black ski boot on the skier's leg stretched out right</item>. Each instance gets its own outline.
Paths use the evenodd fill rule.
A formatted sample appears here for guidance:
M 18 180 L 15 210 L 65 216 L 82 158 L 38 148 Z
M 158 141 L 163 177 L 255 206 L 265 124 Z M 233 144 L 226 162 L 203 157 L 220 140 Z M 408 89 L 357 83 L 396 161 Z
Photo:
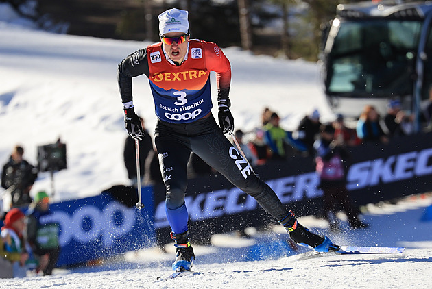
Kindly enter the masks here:
M 339 250 L 339 246 L 333 244 L 326 236 L 313 234 L 309 229 L 300 225 L 292 211 L 289 211 L 289 214 L 279 221 L 279 223 L 285 227 L 289 237 L 297 244 L 309 247 L 317 252 Z

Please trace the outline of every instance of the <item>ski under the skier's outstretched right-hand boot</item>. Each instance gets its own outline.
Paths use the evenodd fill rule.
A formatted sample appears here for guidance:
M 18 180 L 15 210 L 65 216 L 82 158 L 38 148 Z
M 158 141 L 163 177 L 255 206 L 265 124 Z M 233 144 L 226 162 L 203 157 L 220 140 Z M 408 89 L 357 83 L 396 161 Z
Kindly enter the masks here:
M 404 247 L 368 247 L 368 246 L 341 246 L 339 251 L 317 252 L 309 251 L 299 255 L 297 260 L 307 260 L 315 257 L 329 257 L 336 255 L 354 254 L 398 254 L 405 250 Z

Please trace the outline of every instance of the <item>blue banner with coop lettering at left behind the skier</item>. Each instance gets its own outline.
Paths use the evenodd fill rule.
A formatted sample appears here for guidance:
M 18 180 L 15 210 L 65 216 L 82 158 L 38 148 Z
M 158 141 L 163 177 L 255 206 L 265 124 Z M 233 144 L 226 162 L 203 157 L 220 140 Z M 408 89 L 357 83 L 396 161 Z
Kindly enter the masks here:
M 142 210 L 120 203 L 110 193 L 52 203 L 53 213 L 43 222 L 60 224 L 57 266 L 82 264 L 154 245 L 152 187 L 143 188 L 141 195 L 145 205 Z

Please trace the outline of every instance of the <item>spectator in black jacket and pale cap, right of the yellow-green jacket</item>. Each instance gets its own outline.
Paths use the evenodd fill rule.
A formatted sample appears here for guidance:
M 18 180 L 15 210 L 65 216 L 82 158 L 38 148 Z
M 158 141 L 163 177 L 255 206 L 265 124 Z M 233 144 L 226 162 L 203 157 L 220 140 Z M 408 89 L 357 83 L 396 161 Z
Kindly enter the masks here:
M 315 109 L 311 114 L 302 118 L 297 130 L 293 132 L 293 139 L 300 140 L 310 155 L 313 155 L 313 142 L 320 133 L 320 125 L 320 112 Z

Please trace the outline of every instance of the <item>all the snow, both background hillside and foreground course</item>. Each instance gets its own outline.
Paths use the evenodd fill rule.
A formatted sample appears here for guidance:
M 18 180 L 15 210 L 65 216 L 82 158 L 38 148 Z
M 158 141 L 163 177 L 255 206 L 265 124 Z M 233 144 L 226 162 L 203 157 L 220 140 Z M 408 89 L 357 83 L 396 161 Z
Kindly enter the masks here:
M 21 143 L 25 158 L 36 164 L 36 147 L 61 137 L 67 143 L 68 168 L 55 175 L 55 201 L 89 197 L 113 184 L 128 184 L 117 64 L 148 43 L 49 34 L 11 26 L 1 17 L 0 39 L 0 163 Z M 235 47 L 224 52 L 232 64 L 230 95 L 237 128 L 247 131 L 258 126 L 265 106 L 283 116 L 282 126 L 288 130 L 314 108 L 320 109 L 324 121 L 332 119 L 316 64 L 257 57 Z M 156 117 L 145 77 L 135 79 L 134 96 L 137 112 L 152 131 Z M 49 188 L 49 175 L 41 173 L 32 192 Z M 368 229 L 331 236 L 338 244 L 409 248 L 397 256 L 307 261 L 289 256 L 226 263 L 222 239 L 228 238 L 230 247 L 239 250 L 254 240 L 219 236 L 213 247 L 195 247 L 194 269 L 204 274 L 193 277 L 156 281 L 171 271 L 173 253 L 148 249 L 103 266 L 58 270 L 51 277 L 2 279 L 0 288 L 432 288 L 432 221 L 420 221 L 430 203 L 429 197 L 370 207 L 364 215 Z M 325 232 L 322 221 L 301 221 Z

